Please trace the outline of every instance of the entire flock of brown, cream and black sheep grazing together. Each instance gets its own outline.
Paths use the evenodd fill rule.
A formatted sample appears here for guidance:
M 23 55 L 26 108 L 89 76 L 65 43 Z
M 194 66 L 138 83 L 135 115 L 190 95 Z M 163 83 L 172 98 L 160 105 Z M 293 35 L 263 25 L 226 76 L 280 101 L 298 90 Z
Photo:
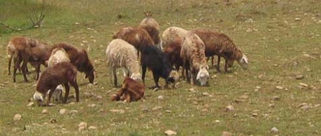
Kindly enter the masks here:
M 187 31 L 180 27 L 169 27 L 159 38 L 159 24 L 145 13 L 146 18 L 139 27 L 124 27 L 114 33 L 113 40 L 106 49 L 106 59 L 110 71 L 110 83 L 117 86 L 116 69 L 122 68 L 124 81 L 121 89 L 111 96 L 111 100 L 124 100 L 127 102 L 143 98 L 145 91 L 145 73 L 149 69 L 160 88 L 159 77 L 166 84 L 176 87 L 180 74 L 190 84 L 208 84 L 207 61 L 218 56 L 217 71 L 220 72 L 220 57 L 225 60 L 224 70 L 237 61 L 241 68 L 248 68 L 248 58 L 234 45 L 233 41 L 224 33 L 216 33 L 208 29 L 192 29 Z M 11 61 L 14 62 L 13 82 L 17 70 L 22 72 L 24 81 L 27 80 L 27 63 L 36 68 L 36 92 L 34 100 L 39 105 L 48 105 L 50 98 L 59 100 L 62 88 L 65 88 L 63 103 L 69 96 L 69 85 L 76 91 L 76 101 L 79 101 L 77 73 L 85 73 L 90 83 L 94 82 L 95 70 L 87 51 L 68 43 L 58 43 L 53 46 L 40 43 L 36 39 L 14 37 L 7 46 L 8 72 L 10 75 Z M 21 65 L 22 63 L 22 65 Z M 41 65 L 48 67 L 41 75 Z M 140 72 L 142 68 L 142 73 Z M 114 80 L 113 80 L 114 79 Z M 141 83 L 143 82 L 143 84 Z M 47 103 L 43 103 L 48 95 Z

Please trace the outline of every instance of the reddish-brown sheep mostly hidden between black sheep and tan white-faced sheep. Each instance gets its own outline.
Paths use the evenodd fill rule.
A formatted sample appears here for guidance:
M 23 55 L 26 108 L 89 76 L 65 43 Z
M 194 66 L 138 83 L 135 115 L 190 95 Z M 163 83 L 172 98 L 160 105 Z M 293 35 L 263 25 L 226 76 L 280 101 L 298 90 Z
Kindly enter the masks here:
M 169 60 L 171 66 L 175 66 L 177 71 L 180 70 L 180 66 L 183 66 L 183 59 L 180 58 L 181 43 L 181 38 L 176 38 L 164 48 L 166 59 Z M 182 75 L 183 78 L 185 78 L 184 73 L 182 73 Z

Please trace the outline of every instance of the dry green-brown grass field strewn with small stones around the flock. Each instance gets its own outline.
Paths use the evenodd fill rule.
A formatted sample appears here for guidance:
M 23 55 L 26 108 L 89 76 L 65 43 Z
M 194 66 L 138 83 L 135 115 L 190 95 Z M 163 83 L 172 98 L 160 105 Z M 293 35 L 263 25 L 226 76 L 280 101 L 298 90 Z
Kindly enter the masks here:
M 0 21 L 25 28 L 30 25 L 27 14 L 39 13 L 40 8 L 40 0 L 0 0 Z M 117 89 L 109 82 L 106 46 L 113 32 L 138 26 L 145 10 L 153 13 L 161 33 L 172 26 L 226 33 L 248 56 L 249 69 L 234 63 L 232 73 L 211 69 L 210 86 L 181 82 L 174 90 L 147 90 L 144 101 L 111 102 L 109 96 Z M 46 1 L 45 13 L 38 29 L 0 27 L 0 135 L 164 135 L 166 130 L 177 135 L 222 135 L 224 131 L 233 135 L 321 135 L 318 0 L 59 0 Z M 8 75 L 6 45 L 13 36 L 87 49 L 98 84 L 87 85 L 81 73 L 80 103 L 27 107 L 36 81 L 26 83 L 17 75 L 14 83 Z M 297 80 L 299 75 L 304 78 Z M 122 80 L 121 74 L 118 77 Z M 149 72 L 146 86 L 152 85 Z M 233 111 L 227 111 L 229 105 Z M 43 114 L 43 109 L 48 113 Z M 60 109 L 67 109 L 66 114 L 59 114 Z M 13 121 L 15 114 L 22 119 Z M 82 121 L 97 130 L 79 131 Z M 272 133 L 273 127 L 278 132 Z

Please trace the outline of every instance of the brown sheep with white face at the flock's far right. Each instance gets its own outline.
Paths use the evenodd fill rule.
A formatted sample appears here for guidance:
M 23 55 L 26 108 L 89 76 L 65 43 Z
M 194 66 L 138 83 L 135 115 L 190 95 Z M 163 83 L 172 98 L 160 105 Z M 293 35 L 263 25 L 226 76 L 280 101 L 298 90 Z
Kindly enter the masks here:
M 233 41 L 224 33 L 216 33 L 208 29 L 193 29 L 192 33 L 196 33 L 205 44 L 206 56 L 218 56 L 217 71 L 220 72 L 220 57 L 225 59 L 224 70 L 227 72 L 227 68 L 233 66 L 236 60 L 240 66 L 246 70 L 248 68 L 248 57 L 242 53 L 242 51 L 236 47 Z M 212 59 L 213 65 L 213 59 Z

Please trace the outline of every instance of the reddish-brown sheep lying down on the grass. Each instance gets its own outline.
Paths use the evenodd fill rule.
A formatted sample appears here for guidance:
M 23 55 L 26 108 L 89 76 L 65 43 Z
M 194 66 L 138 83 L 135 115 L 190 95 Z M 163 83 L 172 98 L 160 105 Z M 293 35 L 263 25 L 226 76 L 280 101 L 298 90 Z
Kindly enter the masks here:
M 127 103 L 140 100 L 144 97 L 145 86 L 135 80 L 126 77 L 122 83 L 122 88 L 111 96 L 112 101 L 126 100 Z

